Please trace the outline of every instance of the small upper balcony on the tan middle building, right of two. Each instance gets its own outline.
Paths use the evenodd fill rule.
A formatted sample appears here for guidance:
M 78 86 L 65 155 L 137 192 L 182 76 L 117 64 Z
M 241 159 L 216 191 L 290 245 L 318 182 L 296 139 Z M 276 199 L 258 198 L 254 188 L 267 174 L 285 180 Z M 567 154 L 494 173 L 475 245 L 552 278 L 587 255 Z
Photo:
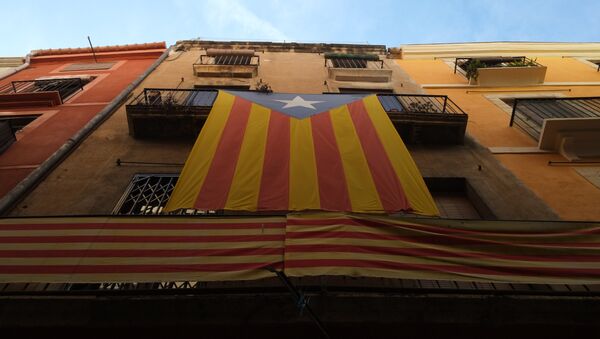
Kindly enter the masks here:
M 325 54 L 329 79 L 335 81 L 388 83 L 392 70 L 375 54 Z

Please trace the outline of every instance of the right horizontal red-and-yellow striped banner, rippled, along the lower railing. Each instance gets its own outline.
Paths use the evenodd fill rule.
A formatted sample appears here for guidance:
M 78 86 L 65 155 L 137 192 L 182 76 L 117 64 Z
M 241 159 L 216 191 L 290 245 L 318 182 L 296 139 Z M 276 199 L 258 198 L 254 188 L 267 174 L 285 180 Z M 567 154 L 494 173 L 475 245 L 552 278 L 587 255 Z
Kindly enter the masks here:
M 600 283 L 600 224 L 288 215 L 285 272 Z

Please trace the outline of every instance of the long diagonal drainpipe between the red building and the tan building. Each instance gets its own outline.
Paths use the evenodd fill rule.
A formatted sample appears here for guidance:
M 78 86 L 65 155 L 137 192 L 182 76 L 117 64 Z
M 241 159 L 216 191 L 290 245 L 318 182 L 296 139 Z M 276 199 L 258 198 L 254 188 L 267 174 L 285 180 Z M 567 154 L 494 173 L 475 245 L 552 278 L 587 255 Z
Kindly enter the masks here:
M 33 170 L 15 188 L 0 199 L 0 215 L 6 215 L 25 195 L 35 188 L 50 172 L 77 146 L 85 137 L 92 133 L 110 115 L 116 111 L 139 84 L 167 58 L 173 47 L 169 47 L 150 68 L 133 81 L 114 98 L 102 111 L 96 114 L 82 129 L 69 138 L 56 152 L 46 159 L 38 168 Z

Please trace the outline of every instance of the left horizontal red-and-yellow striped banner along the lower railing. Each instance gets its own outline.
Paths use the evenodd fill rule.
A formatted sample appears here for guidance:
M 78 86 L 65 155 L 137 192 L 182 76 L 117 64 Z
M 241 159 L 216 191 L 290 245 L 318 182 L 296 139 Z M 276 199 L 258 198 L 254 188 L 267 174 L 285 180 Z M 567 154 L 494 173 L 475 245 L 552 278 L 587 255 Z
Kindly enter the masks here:
M 259 279 L 284 233 L 285 217 L 0 219 L 0 282 Z

